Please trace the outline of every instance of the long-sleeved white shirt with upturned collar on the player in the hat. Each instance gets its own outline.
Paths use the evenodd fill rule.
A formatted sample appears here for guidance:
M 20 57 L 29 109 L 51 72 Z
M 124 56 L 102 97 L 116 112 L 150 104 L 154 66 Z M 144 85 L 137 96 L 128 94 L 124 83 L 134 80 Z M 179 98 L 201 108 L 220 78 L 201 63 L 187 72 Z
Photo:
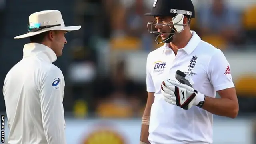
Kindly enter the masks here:
M 25 44 L 23 58 L 6 75 L 3 94 L 8 144 L 66 144 L 64 77 L 47 46 Z

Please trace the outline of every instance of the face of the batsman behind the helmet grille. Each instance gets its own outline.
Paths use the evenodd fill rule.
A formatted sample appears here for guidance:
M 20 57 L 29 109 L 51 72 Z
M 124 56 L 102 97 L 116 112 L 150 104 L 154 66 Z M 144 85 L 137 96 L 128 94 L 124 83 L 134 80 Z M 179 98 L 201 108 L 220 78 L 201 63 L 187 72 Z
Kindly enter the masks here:
M 161 32 L 162 34 L 160 35 L 162 40 L 166 39 L 169 37 L 170 34 L 166 34 L 165 32 L 171 32 L 172 31 L 172 17 L 155 17 L 156 20 L 156 29 L 158 32 Z M 167 25 L 169 24 L 169 25 Z

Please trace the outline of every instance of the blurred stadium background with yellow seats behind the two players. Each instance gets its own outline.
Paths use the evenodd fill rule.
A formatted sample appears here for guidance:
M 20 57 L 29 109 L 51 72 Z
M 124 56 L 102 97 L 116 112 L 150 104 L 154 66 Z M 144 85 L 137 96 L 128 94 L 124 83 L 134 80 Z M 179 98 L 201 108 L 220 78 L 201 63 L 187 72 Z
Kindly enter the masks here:
M 0 87 L 29 42 L 13 39 L 26 33 L 28 16 L 60 10 L 66 26 L 82 25 L 66 34 L 64 54 L 54 62 L 66 81 L 68 144 L 138 144 L 147 98 L 146 57 L 162 46 L 147 31 L 146 22 L 154 18 L 143 16 L 153 1 L 0 0 Z M 192 1 L 192 30 L 226 55 L 240 104 L 238 118 L 214 118 L 214 144 L 256 144 L 256 0 Z M 5 131 L 7 142 L 7 121 Z

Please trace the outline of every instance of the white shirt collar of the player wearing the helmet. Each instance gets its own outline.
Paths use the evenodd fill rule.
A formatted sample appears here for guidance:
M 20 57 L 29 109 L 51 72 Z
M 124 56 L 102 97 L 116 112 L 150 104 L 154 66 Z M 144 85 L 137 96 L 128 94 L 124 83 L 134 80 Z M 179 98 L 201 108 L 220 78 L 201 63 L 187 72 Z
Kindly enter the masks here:
M 195 31 L 191 31 L 191 34 L 192 38 L 189 40 L 188 44 L 184 48 L 182 48 L 182 50 L 184 50 L 187 54 L 191 54 L 201 41 L 201 38 L 196 34 Z M 168 46 L 168 43 L 164 44 L 164 52 L 167 52 L 169 50 L 172 51 Z

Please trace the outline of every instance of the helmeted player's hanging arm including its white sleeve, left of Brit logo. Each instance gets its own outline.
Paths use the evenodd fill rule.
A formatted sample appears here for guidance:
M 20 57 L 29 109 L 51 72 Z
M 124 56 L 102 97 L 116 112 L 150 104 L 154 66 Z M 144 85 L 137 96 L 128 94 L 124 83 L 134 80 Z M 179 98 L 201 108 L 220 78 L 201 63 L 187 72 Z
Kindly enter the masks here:
M 149 128 L 149 120 L 150 120 L 150 112 L 151 112 L 151 106 L 154 102 L 154 93 L 155 93 L 155 86 L 152 79 L 152 76 L 150 74 L 150 54 L 147 58 L 147 65 L 146 65 L 146 87 L 148 91 L 148 99 L 146 103 L 146 107 L 142 116 L 142 126 L 141 126 L 141 132 L 140 132 L 140 144 L 150 144 L 148 141 L 148 128 Z

